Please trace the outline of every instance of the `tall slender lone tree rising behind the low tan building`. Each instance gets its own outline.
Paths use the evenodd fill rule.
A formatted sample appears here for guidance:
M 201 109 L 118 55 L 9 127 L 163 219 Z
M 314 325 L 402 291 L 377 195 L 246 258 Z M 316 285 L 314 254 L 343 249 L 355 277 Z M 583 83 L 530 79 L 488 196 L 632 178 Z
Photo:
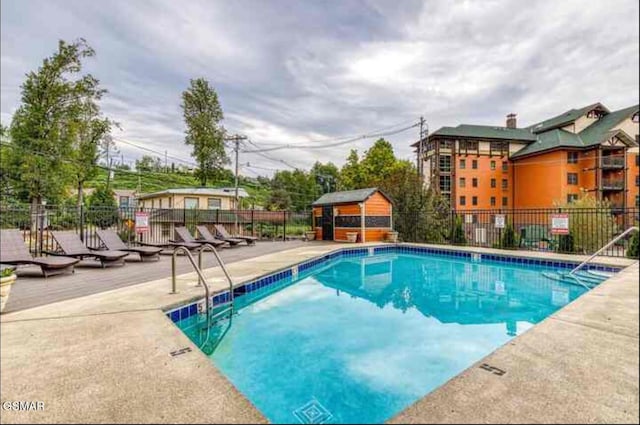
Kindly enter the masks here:
M 182 93 L 182 112 L 187 126 L 185 143 L 193 147 L 191 156 L 198 163 L 196 176 L 202 186 L 219 177 L 224 165 L 229 162 L 224 151 L 224 118 L 218 95 L 204 78 L 191 80 L 191 85 Z

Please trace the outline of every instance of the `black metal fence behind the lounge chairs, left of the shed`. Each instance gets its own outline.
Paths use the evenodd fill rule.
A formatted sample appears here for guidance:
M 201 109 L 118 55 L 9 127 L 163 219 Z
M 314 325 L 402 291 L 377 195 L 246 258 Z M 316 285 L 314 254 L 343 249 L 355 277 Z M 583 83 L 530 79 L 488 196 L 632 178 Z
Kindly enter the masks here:
M 136 230 L 136 213 L 146 213 L 148 229 Z M 128 244 L 166 243 L 174 239 L 174 228 L 186 226 L 196 234 L 197 225 L 206 225 L 215 234 L 215 225 L 231 234 L 251 235 L 265 240 L 302 238 L 311 228 L 311 213 L 260 210 L 198 210 L 159 208 L 77 208 L 75 206 L 21 205 L 0 208 L 0 227 L 20 229 L 35 254 L 57 247 L 51 231 L 73 230 L 87 246 L 98 248 L 97 229 L 115 230 Z M 138 229 L 139 230 L 139 229 Z

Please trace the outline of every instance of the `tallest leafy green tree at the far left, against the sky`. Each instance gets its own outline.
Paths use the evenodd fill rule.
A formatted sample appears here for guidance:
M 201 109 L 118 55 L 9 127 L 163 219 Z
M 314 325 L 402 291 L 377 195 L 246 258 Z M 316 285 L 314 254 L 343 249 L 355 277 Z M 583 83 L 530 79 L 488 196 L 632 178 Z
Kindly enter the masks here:
M 22 84 L 21 104 L 11 122 L 8 174 L 17 196 L 36 204 L 59 200 L 69 182 L 68 159 L 73 156 L 78 98 L 94 87 L 82 62 L 94 56 L 85 40 L 60 40 L 58 51 L 44 59 Z

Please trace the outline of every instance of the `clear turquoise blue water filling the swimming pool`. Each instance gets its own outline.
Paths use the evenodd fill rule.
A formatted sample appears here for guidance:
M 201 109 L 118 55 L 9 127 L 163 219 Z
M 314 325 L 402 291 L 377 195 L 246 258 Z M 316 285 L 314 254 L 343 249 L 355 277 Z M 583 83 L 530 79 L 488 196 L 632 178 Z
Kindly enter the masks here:
M 209 356 L 272 422 L 381 423 L 585 292 L 542 275 L 550 270 L 402 253 L 334 259 L 236 298 Z M 177 323 L 199 345 L 201 320 Z

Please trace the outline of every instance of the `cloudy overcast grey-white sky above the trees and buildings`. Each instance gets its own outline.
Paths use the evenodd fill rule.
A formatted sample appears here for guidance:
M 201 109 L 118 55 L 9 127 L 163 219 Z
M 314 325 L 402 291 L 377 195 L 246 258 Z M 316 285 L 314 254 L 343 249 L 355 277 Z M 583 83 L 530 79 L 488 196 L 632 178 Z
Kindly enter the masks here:
M 638 0 L 591 1 L 73 1 L 3 0 L 1 119 L 25 73 L 57 40 L 85 38 L 87 70 L 109 90 L 115 136 L 189 159 L 180 94 L 190 78 L 218 92 L 224 126 L 258 146 L 322 145 L 424 115 L 460 123 L 532 124 L 602 102 L 638 103 Z M 388 137 L 413 159 L 417 130 Z M 311 141 L 311 142 L 310 142 Z M 341 165 L 350 148 L 285 149 L 299 167 Z M 125 161 L 144 152 L 120 144 Z M 171 161 L 171 160 L 170 160 Z M 288 169 L 241 154 L 242 174 Z

